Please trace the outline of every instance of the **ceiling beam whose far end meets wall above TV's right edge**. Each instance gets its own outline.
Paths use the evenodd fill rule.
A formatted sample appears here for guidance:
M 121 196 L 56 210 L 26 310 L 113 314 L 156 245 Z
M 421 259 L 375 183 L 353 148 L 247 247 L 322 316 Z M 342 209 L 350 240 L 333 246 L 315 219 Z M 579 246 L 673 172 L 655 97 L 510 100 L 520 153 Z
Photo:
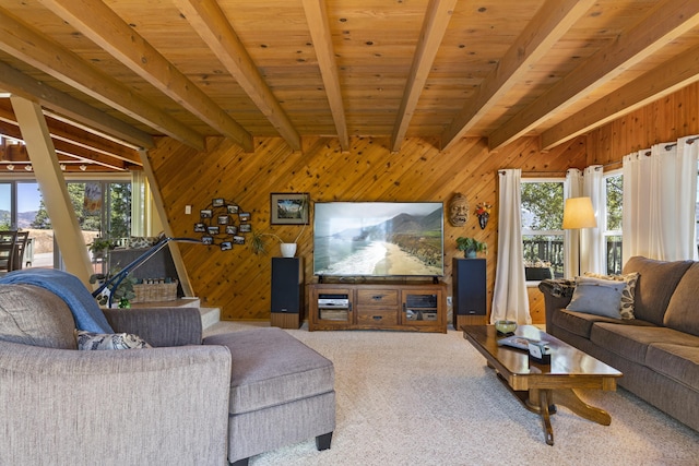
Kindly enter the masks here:
M 442 132 L 442 150 L 463 138 L 478 120 L 540 61 L 564 34 L 594 4 L 593 0 L 548 0 L 529 22 L 452 123 Z

